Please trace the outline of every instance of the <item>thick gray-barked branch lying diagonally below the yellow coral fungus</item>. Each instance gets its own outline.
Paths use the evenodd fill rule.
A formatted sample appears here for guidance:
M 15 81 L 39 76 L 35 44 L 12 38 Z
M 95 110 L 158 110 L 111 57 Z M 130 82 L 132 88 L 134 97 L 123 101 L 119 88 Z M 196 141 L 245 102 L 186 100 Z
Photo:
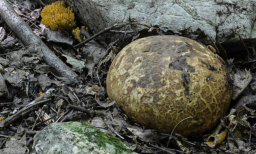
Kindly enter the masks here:
M 46 64 L 57 69 L 62 77 L 73 79 L 77 76 L 71 68 L 66 66 L 64 62 L 52 53 L 52 51 L 33 32 L 29 25 L 22 20 L 6 0 L 0 0 L 0 16 L 26 46 L 33 44 L 36 44 L 37 48 L 39 46 L 39 50 L 43 53 Z

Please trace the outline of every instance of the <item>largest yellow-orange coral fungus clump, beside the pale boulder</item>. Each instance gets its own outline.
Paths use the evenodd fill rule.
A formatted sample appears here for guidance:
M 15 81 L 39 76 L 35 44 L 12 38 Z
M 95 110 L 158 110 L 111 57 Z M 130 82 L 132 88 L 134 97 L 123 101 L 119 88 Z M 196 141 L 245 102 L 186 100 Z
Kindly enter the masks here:
M 45 24 L 46 28 L 52 30 L 65 30 L 70 31 L 75 25 L 75 16 L 73 9 L 70 7 L 66 8 L 66 4 L 63 1 L 57 1 L 52 5 L 47 5 L 41 12 L 42 23 Z

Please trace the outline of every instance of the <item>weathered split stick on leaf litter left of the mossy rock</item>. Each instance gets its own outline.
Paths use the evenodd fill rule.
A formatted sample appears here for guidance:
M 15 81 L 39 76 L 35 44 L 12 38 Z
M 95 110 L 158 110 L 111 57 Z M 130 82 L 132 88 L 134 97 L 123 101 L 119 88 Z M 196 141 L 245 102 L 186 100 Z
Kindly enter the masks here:
M 43 101 L 39 101 L 36 103 L 32 103 L 29 106 L 26 106 L 25 108 L 19 110 L 17 113 L 15 113 L 14 115 L 6 118 L 4 121 L 0 122 L 0 131 L 2 131 L 3 129 L 5 129 L 6 127 L 10 126 L 11 124 L 13 124 L 16 120 L 18 120 L 20 117 L 24 117 L 25 115 L 27 115 L 28 113 L 30 113 L 34 108 L 50 101 L 51 99 L 45 99 Z

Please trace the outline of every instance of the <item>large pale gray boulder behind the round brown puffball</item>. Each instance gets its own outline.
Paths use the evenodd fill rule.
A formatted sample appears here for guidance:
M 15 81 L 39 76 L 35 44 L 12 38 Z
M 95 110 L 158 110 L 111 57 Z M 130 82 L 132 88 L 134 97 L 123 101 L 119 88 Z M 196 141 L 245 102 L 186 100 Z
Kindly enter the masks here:
M 43 0 L 51 4 L 54 0 Z M 64 0 L 96 32 L 115 23 L 159 25 L 171 30 L 200 28 L 213 40 L 256 38 L 255 0 Z M 141 27 L 145 28 L 145 27 Z

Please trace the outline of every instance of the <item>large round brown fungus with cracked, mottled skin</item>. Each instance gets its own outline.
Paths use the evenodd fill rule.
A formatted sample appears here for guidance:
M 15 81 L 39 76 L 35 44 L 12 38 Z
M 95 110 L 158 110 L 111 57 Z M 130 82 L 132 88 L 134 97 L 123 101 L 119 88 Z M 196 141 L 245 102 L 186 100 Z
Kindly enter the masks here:
M 142 126 L 183 136 L 208 133 L 227 112 L 232 84 L 217 55 L 179 36 L 138 39 L 123 48 L 107 75 L 107 93 Z

